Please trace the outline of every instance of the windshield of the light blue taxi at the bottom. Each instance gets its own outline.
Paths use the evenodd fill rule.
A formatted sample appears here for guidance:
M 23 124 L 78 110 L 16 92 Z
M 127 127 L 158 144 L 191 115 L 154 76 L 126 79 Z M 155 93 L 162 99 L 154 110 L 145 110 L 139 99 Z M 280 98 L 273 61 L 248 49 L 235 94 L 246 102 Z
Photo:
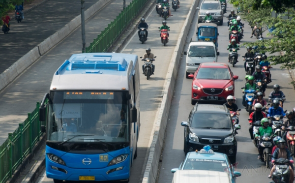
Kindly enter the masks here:
M 207 170 L 227 172 L 227 164 L 223 160 L 187 159 L 183 170 Z

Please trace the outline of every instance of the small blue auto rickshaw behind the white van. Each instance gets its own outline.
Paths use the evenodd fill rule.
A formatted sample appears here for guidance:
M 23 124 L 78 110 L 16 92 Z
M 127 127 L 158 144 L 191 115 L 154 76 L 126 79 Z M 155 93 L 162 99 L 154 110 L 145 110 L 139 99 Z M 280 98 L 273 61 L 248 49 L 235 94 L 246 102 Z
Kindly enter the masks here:
M 216 52 L 218 50 L 218 29 L 217 25 L 213 23 L 198 24 L 196 41 L 211 41 L 214 42 Z M 219 53 L 217 52 L 219 55 Z

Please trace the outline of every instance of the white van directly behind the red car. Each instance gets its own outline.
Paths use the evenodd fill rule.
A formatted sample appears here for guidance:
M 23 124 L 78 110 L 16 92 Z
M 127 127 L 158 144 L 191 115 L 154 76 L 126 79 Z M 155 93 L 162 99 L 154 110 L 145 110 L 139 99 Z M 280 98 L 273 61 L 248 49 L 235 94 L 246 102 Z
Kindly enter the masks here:
M 217 52 L 215 44 L 208 41 L 192 41 L 189 43 L 186 55 L 185 76 L 195 73 L 200 63 L 217 62 Z

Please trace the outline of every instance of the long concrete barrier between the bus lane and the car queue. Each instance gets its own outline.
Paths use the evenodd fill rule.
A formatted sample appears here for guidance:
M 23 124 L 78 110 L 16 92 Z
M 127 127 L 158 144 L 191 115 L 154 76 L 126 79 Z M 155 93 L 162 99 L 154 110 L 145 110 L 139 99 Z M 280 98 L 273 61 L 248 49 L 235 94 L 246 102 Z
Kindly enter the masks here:
M 167 72 L 167 82 L 164 89 L 164 95 L 160 107 L 160 111 L 157 117 L 157 122 L 155 129 L 153 131 L 153 140 L 150 145 L 148 152 L 148 162 L 144 173 L 144 178 L 142 183 L 155 183 L 158 174 L 158 165 L 160 160 L 160 155 L 163 148 L 164 134 L 166 130 L 166 124 L 168 121 L 171 101 L 173 97 L 173 92 L 175 88 L 175 81 L 177 78 L 177 69 L 181 59 L 181 54 L 185 45 L 186 36 L 189 32 L 191 22 L 196 13 L 196 8 L 198 6 L 199 0 L 194 0 L 192 6 L 187 14 L 184 26 L 179 34 L 177 45 L 175 47 L 168 72 Z

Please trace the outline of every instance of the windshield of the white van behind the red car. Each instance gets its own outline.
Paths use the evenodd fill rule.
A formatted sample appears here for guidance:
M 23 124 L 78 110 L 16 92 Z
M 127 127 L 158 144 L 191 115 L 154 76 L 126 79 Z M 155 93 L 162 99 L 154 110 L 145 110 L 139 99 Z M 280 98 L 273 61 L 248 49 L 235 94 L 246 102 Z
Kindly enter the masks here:
M 213 46 L 191 46 L 188 57 L 215 57 Z

